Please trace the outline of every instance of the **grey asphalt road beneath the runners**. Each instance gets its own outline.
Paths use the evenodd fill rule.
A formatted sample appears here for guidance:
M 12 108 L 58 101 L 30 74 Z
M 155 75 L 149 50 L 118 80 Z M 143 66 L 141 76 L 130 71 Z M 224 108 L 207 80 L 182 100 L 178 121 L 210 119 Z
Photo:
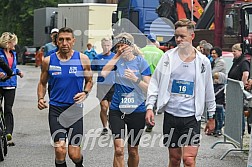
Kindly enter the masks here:
M 0 167 L 53 167 L 54 150 L 50 144 L 48 110 L 37 109 L 36 88 L 40 69 L 34 66 L 19 66 L 25 77 L 19 80 L 14 104 L 14 142 L 16 146 L 8 148 L 8 155 Z M 100 137 L 101 123 L 99 105 L 95 97 L 96 85 L 85 102 L 84 128 L 86 138 L 83 144 L 85 167 L 111 167 L 113 161 L 113 140 L 111 135 Z M 152 133 L 144 133 L 139 148 L 140 167 L 165 167 L 168 163 L 167 148 L 162 146 L 163 115 L 156 116 L 156 126 Z M 197 157 L 198 167 L 245 167 L 247 155 L 231 152 L 223 160 L 219 158 L 230 148 L 220 144 L 210 147 L 222 137 L 206 136 L 202 132 L 202 142 Z M 125 149 L 125 160 L 127 150 Z M 74 167 L 67 158 L 68 166 Z

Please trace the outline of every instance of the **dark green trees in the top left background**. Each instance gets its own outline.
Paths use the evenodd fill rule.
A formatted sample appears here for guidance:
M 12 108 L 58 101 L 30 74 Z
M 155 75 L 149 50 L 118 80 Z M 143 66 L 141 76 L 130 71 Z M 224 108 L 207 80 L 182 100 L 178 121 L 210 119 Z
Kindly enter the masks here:
M 15 33 L 20 45 L 32 45 L 34 9 L 75 2 L 82 0 L 1 0 L 0 34 L 6 31 Z

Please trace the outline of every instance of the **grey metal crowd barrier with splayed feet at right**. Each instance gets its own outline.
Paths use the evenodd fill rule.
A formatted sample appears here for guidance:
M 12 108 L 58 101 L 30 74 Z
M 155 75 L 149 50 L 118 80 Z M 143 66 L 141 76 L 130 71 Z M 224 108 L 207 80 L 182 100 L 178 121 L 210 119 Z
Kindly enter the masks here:
M 244 152 L 242 136 L 242 117 L 244 106 L 244 85 L 241 81 L 228 78 L 226 87 L 226 112 L 225 112 L 225 127 L 224 141 L 219 141 L 213 144 L 212 149 L 217 144 L 231 144 L 235 148 L 229 149 L 221 156 L 221 160 L 231 152 Z M 229 140 L 229 141 L 228 141 Z

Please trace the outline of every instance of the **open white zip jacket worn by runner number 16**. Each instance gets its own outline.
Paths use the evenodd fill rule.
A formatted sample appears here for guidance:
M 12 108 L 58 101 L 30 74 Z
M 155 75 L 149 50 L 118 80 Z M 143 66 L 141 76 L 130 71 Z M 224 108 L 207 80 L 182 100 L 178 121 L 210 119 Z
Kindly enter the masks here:
M 213 88 L 211 64 L 209 59 L 202 53 L 196 51 L 196 79 L 195 79 L 195 117 L 199 121 L 206 109 L 209 115 L 212 116 L 215 113 L 216 103 Z M 159 63 L 151 77 L 148 92 L 146 106 L 147 109 L 153 109 L 155 102 L 157 102 L 157 109 L 164 111 L 166 104 L 170 99 L 169 81 L 171 75 L 171 69 L 175 64 L 174 55 L 178 54 L 178 48 L 167 51 L 163 57 L 159 60 Z

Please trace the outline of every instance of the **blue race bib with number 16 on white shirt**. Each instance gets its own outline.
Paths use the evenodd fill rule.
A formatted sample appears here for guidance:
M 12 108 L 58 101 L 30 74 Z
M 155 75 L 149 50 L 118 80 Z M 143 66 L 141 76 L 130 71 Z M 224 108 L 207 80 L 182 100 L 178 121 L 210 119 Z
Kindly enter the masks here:
M 171 93 L 192 96 L 194 82 L 184 80 L 173 80 Z

